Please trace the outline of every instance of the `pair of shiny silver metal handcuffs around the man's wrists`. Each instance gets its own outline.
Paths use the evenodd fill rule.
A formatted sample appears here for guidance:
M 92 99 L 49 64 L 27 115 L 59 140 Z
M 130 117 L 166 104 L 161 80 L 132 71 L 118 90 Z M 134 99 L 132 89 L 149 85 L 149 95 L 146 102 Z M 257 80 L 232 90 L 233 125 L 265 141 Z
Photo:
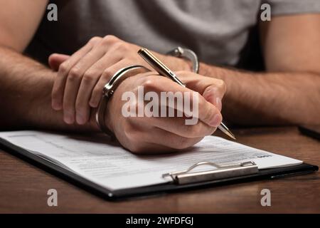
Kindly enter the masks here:
M 173 50 L 169 51 L 167 53 L 170 56 L 175 56 L 178 58 L 186 58 L 189 61 L 191 61 L 193 67 L 192 70 L 194 73 L 198 73 L 199 71 L 199 61 L 196 53 L 191 51 L 190 49 L 177 47 Z M 137 71 L 137 73 L 133 73 L 133 71 Z M 146 73 L 150 70 L 144 66 L 140 65 L 132 65 L 127 66 L 116 73 L 110 78 L 109 82 L 105 84 L 102 90 L 102 99 L 99 103 L 99 106 L 97 108 L 97 113 L 95 113 L 95 120 L 97 122 L 98 127 L 100 130 L 109 135 L 110 138 L 114 139 L 114 134 L 112 131 L 107 127 L 105 123 L 105 112 L 107 110 L 107 103 L 112 98 L 112 95 L 114 94 L 114 91 L 117 89 L 117 87 L 124 81 L 126 78 L 129 78 L 132 75 L 136 75 L 138 73 Z

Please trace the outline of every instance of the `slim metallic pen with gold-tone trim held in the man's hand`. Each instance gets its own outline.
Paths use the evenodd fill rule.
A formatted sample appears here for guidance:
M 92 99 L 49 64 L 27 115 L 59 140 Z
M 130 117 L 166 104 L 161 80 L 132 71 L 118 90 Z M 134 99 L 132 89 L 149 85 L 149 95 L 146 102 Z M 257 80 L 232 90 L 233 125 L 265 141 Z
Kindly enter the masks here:
M 158 58 L 156 58 L 156 56 L 154 56 L 148 49 L 146 48 L 141 48 L 138 51 L 139 56 L 141 56 L 144 61 L 146 61 L 147 63 L 149 63 L 149 65 L 154 68 L 154 70 L 156 70 L 161 76 L 166 76 L 168 78 L 171 78 L 173 81 L 175 81 L 176 83 L 178 83 L 180 86 L 186 87 L 186 85 L 184 85 L 180 79 L 176 76 L 176 74 L 171 71 L 166 65 L 164 65 L 164 63 L 162 63 L 161 61 L 159 61 Z M 228 135 L 230 138 L 233 138 L 235 140 L 235 135 L 233 135 L 233 133 L 231 133 L 231 131 L 227 128 L 227 126 L 224 123 L 220 123 L 220 125 L 218 125 L 218 128 L 225 133 L 225 135 Z

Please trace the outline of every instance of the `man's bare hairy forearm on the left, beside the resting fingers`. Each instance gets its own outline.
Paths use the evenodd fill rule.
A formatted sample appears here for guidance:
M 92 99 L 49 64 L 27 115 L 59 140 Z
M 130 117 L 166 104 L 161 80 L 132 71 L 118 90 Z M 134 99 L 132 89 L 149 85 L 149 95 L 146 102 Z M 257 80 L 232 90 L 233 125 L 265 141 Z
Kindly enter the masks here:
M 96 130 L 95 123 L 67 125 L 61 112 L 51 108 L 55 72 L 0 47 L 0 128 L 41 128 L 48 130 Z

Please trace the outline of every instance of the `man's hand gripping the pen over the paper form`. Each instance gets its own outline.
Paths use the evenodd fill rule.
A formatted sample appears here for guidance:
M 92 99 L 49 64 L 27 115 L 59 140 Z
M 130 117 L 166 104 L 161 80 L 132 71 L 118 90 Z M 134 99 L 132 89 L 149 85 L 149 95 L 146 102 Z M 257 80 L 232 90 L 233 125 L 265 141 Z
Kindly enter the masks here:
M 186 71 L 177 72 L 177 76 L 192 90 L 183 88 L 169 78 L 159 76 L 155 72 L 129 77 L 115 90 L 107 105 L 105 120 L 106 125 L 114 132 L 122 146 L 135 153 L 169 152 L 191 147 L 204 136 L 215 132 L 222 121 L 220 106 L 217 108 L 207 100 L 215 102 L 215 100 L 223 98 L 225 93 L 223 81 Z M 144 93 L 152 91 L 158 95 L 163 91 L 190 93 L 188 100 L 190 104 L 197 102 L 193 100 L 192 95 L 197 93 L 198 123 L 186 125 L 185 118 L 181 117 L 146 117 L 145 115 L 143 117 L 124 117 L 122 107 L 124 103 L 127 103 L 127 100 L 122 100 L 122 95 L 131 91 L 137 98 L 139 86 L 143 86 Z M 183 104 L 186 104 L 186 100 L 183 100 Z M 136 110 L 139 109 L 139 105 L 145 104 L 137 101 L 134 103 Z M 159 110 L 160 108 L 163 107 L 159 107 Z M 169 103 L 166 103 L 166 110 L 169 108 L 178 109 L 176 105 L 171 107 Z

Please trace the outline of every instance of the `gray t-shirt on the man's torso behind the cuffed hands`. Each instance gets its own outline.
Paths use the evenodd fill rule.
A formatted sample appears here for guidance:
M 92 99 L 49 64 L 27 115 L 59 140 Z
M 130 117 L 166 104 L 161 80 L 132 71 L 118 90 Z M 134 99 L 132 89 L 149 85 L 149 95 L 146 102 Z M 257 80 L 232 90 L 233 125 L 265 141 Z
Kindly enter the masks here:
M 92 36 L 112 34 L 166 53 L 183 46 L 201 61 L 235 66 L 260 18 L 319 13 L 320 0 L 57 0 L 58 21 L 46 14 L 26 53 L 43 63 L 53 52 L 71 54 Z M 46 11 L 48 13 L 48 11 Z

